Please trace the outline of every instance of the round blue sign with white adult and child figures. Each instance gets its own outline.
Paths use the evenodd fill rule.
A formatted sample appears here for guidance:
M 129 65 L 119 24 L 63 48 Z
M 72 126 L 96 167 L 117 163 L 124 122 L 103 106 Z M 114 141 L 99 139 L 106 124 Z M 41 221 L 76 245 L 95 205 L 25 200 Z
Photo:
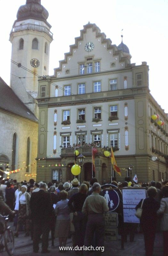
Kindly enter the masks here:
M 109 212 L 113 212 L 119 205 L 119 196 L 115 190 L 103 190 L 103 196 L 106 200 L 106 204 L 108 205 Z

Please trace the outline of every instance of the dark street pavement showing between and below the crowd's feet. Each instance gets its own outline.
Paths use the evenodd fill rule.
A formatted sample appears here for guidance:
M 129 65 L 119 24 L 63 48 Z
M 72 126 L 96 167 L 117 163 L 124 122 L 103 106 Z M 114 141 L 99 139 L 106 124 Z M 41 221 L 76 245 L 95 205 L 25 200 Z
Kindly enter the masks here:
M 11 227 L 13 223 L 10 223 Z M 14 228 L 12 227 L 14 230 Z M 59 242 L 58 238 L 55 239 L 55 248 L 51 248 L 51 240 L 49 241 L 49 250 L 50 253 L 42 254 L 41 248 L 39 253 L 33 253 L 32 247 L 32 240 L 30 236 L 25 237 L 24 232 L 19 233 L 19 237 L 15 238 L 15 252 L 14 255 L 24 255 L 24 256 L 38 256 L 38 255 L 48 255 L 48 256 L 60 256 L 60 255 L 67 255 L 67 256 L 75 256 L 75 251 L 65 251 L 59 252 Z M 71 239 L 67 240 L 67 246 L 72 246 Z M 40 245 L 41 247 L 41 245 Z M 84 252 L 86 255 L 86 252 Z M 124 250 L 121 250 L 121 237 L 118 237 L 118 241 L 107 242 L 105 241 L 104 244 L 104 252 L 102 252 L 102 256 L 145 256 L 144 250 L 144 240 L 143 234 L 138 233 L 135 234 L 134 242 L 127 242 L 124 243 Z M 1 253 L 1 256 L 7 256 L 6 252 Z M 89 253 L 87 256 L 96 256 L 96 252 Z M 163 246 L 162 246 L 162 234 L 156 233 L 155 245 L 154 245 L 154 254 L 153 256 L 163 256 Z

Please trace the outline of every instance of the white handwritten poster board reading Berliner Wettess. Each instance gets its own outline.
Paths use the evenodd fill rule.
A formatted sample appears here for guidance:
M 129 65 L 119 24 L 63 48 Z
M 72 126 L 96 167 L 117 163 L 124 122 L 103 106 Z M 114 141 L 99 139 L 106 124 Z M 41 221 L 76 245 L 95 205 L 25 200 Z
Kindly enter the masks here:
M 140 219 L 135 216 L 135 206 L 139 204 L 140 200 L 146 198 L 146 191 L 144 188 L 124 188 L 123 192 L 123 213 L 124 222 L 140 223 Z

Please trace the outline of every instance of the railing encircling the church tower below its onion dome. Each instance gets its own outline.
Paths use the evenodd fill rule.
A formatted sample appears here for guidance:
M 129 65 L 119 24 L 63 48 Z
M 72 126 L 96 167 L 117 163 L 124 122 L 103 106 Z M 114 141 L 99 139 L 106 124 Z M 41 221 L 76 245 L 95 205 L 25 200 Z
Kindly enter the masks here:
M 41 26 L 41 25 L 36 25 L 36 24 L 23 24 L 20 26 L 16 26 L 12 29 L 12 32 L 16 32 L 16 31 L 21 31 L 21 30 L 36 30 L 36 31 L 41 31 L 41 32 L 45 32 L 47 35 L 49 35 L 51 38 L 53 36 L 52 32 L 46 28 L 45 26 Z

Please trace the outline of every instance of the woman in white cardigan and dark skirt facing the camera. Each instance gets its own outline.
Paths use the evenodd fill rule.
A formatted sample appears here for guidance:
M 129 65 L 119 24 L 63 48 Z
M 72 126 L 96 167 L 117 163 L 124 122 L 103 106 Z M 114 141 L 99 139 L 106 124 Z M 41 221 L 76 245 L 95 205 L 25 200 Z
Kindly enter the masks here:
M 28 230 L 28 218 L 29 218 L 29 201 L 30 201 L 30 194 L 26 192 L 27 187 L 25 185 L 21 186 L 21 192 L 17 196 L 15 210 L 18 210 L 18 221 L 16 227 L 16 233 L 14 234 L 16 237 L 19 235 L 19 228 L 20 225 L 25 225 L 26 234 L 25 236 L 29 236 Z

